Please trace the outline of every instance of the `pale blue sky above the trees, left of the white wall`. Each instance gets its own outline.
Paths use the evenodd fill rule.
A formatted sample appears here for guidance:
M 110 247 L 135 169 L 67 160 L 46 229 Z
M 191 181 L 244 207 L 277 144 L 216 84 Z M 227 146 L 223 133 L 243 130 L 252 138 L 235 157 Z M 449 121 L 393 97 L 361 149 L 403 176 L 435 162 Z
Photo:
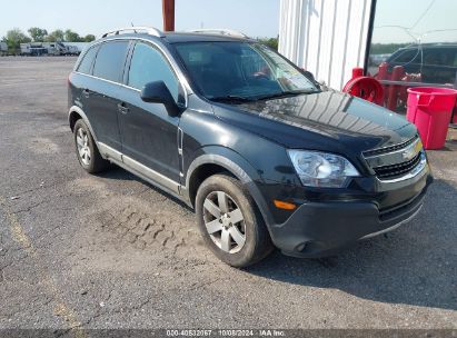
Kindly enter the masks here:
M 0 0 L 0 37 L 18 27 L 70 28 L 102 34 L 118 27 L 162 28 L 161 0 Z M 251 37 L 276 37 L 279 0 L 176 0 L 176 29 L 231 28 Z

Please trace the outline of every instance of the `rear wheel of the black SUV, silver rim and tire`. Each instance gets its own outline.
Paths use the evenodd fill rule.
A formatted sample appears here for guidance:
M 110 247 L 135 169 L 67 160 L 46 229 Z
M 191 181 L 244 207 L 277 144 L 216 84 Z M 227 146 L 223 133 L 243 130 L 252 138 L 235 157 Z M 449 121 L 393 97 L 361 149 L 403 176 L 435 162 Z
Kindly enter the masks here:
M 108 169 L 109 162 L 101 157 L 90 129 L 82 119 L 74 123 L 73 135 L 74 148 L 81 167 L 89 173 Z

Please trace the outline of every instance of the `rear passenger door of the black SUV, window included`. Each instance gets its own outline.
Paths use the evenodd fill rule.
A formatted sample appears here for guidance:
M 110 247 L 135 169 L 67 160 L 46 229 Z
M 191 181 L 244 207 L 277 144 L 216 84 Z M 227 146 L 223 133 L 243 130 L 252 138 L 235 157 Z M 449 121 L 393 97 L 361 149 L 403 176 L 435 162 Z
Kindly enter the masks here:
M 118 123 L 118 97 L 126 64 L 129 42 L 122 40 L 100 46 L 93 64 L 92 81 L 85 96 L 90 101 L 88 116 L 98 141 L 118 151 L 121 140 Z M 88 112 L 86 112 L 88 113 Z

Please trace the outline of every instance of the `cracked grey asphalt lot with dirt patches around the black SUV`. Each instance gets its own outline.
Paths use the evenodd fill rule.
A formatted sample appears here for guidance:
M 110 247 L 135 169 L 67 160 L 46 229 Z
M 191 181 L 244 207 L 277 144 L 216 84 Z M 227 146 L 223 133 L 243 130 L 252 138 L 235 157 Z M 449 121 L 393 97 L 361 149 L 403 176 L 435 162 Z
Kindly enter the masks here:
M 395 232 L 236 270 L 192 210 L 125 170 L 80 168 L 74 60 L 0 58 L 0 328 L 457 329 L 457 143 L 429 152 L 436 181 Z

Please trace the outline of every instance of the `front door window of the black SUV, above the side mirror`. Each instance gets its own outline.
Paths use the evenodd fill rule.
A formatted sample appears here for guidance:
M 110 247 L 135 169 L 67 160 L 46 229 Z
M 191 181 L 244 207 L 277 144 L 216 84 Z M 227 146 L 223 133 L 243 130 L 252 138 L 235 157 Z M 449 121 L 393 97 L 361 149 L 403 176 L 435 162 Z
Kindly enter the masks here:
M 178 100 L 178 80 L 161 52 L 146 43 L 137 43 L 129 70 L 130 87 L 142 89 L 146 83 L 163 81 Z

